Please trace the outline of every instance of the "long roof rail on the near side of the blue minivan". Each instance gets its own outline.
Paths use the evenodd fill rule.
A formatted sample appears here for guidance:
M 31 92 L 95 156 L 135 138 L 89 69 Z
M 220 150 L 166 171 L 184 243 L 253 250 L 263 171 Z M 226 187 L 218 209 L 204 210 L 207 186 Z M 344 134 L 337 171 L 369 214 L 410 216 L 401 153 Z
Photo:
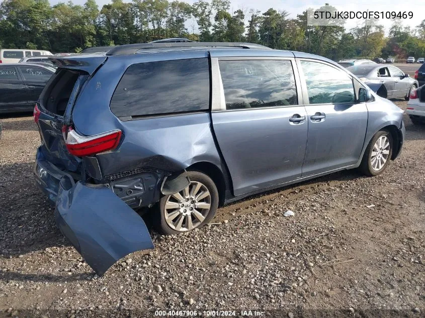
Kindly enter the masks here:
M 235 47 L 242 49 L 268 49 L 271 48 L 253 43 L 243 42 L 156 42 L 125 44 L 112 48 L 106 55 L 134 54 L 143 49 L 180 48 L 180 47 Z

